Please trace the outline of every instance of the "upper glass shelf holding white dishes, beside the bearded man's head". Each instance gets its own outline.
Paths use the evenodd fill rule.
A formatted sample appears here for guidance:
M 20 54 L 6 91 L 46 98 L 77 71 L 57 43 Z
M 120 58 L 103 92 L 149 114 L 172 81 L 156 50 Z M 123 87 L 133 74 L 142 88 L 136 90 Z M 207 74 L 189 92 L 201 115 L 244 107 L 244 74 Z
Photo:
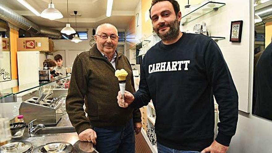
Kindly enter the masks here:
M 220 7 L 226 5 L 226 3 L 221 2 L 207 2 L 206 4 L 196 8 L 195 10 L 189 12 L 188 14 L 182 17 L 182 23 L 186 24 L 199 17 L 206 15 L 212 11 L 217 11 Z

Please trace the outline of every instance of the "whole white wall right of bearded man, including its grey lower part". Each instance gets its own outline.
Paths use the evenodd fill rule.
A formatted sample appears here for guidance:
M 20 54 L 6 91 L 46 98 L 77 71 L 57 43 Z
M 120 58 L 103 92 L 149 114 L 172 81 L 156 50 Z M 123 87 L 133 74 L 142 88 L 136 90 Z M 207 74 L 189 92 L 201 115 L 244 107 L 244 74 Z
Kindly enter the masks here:
M 226 6 L 217 12 L 202 16 L 183 28 L 195 23 L 207 23 L 212 36 L 225 36 L 218 45 L 229 66 L 239 94 L 239 111 L 236 134 L 233 136 L 228 153 L 271 153 L 272 121 L 252 115 L 252 76 L 253 76 L 253 0 L 225 0 Z M 251 4 L 250 4 L 251 2 Z M 251 8 L 251 9 L 250 9 Z M 229 42 L 231 21 L 243 20 L 241 43 Z M 241 105 L 243 104 L 243 105 Z M 220 106 L 219 106 L 220 107 Z

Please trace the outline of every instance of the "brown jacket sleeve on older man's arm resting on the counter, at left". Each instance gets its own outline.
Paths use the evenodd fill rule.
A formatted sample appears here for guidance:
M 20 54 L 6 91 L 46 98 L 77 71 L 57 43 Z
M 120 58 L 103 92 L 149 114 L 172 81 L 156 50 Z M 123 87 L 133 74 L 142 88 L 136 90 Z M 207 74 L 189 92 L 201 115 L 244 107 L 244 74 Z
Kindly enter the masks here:
M 84 97 L 87 92 L 87 72 L 79 56 L 73 64 L 73 72 L 70 87 L 66 97 L 66 111 L 69 119 L 78 134 L 91 128 L 88 118 L 83 109 Z

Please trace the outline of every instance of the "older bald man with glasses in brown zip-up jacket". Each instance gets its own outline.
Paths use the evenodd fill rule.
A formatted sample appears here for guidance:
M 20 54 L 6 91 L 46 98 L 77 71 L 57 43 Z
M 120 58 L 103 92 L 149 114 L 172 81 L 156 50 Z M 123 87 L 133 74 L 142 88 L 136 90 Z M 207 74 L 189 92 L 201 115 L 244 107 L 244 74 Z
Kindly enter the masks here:
M 96 144 L 101 153 L 134 153 L 134 132 L 141 130 L 139 109 L 120 108 L 116 103 L 119 91 L 117 69 L 128 72 L 126 89 L 134 92 L 130 62 L 116 51 L 117 28 L 104 23 L 97 27 L 96 45 L 79 54 L 73 65 L 66 110 L 81 141 Z M 86 113 L 83 110 L 85 101 Z

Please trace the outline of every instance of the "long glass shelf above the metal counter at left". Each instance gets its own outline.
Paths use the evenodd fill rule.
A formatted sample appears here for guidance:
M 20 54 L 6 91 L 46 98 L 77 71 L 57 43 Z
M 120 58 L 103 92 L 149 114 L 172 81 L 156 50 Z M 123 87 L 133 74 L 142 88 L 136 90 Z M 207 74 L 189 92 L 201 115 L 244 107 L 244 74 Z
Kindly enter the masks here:
M 33 82 L 33 83 L 27 83 L 27 84 L 23 84 L 20 86 L 4 89 L 4 90 L 0 91 L 0 93 L 1 93 L 0 99 L 11 96 L 12 94 L 19 94 L 24 91 L 28 91 L 28 90 L 31 90 L 31 89 L 34 89 L 37 87 L 41 87 L 41 86 L 44 86 L 44 85 L 52 83 L 52 82 L 56 82 L 61 79 L 65 79 L 65 78 L 68 79 L 68 77 L 70 77 L 70 75 L 59 75 L 54 78 L 51 78 L 49 82 Z

